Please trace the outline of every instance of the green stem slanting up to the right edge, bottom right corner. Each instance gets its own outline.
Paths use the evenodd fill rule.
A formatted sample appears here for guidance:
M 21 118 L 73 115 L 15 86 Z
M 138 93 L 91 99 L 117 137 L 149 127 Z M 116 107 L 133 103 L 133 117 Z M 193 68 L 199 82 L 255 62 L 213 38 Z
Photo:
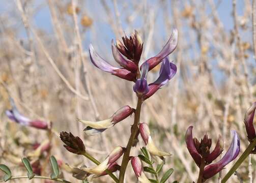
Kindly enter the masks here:
M 229 172 L 224 176 L 224 178 L 221 180 L 221 183 L 224 183 L 231 177 L 232 174 L 235 173 L 235 171 L 238 169 L 238 167 L 243 163 L 243 161 L 250 155 L 252 149 L 256 145 L 256 138 L 248 145 L 248 147 L 245 149 L 244 153 L 240 156 L 240 158 L 237 160 L 237 162 L 233 165 L 233 167 L 230 169 Z

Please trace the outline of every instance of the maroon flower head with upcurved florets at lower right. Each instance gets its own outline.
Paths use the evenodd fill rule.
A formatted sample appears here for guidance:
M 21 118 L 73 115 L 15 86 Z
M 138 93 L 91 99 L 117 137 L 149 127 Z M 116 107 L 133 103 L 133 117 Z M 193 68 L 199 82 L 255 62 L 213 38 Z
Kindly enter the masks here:
M 196 138 L 192 136 L 193 127 L 190 126 L 187 129 L 185 140 L 187 144 L 188 151 L 195 161 L 196 165 L 200 167 L 202 158 L 205 160 L 205 164 L 208 165 L 204 169 L 203 177 L 208 179 L 213 175 L 217 174 L 224 166 L 233 161 L 239 154 L 240 151 L 240 139 L 236 131 L 232 130 L 233 140 L 223 158 L 217 163 L 212 163 L 223 151 L 223 139 L 219 136 L 216 146 L 212 153 L 210 153 L 211 139 L 207 135 L 199 142 Z M 209 165 L 210 164 L 210 165 Z

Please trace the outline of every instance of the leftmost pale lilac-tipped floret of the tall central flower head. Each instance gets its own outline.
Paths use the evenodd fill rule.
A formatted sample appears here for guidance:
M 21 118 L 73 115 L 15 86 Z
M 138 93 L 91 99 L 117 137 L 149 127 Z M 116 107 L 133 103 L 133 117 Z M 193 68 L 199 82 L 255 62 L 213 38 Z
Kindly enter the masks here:
M 94 50 L 93 46 L 90 44 L 89 48 L 90 58 L 94 66 L 101 69 L 102 71 L 111 73 L 112 75 L 118 76 L 122 79 L 128 81 L 135 81 L 136 75 L 126 69 L 117 68 L 111 66 L 106 60 L 104 60 L 100 55 Z

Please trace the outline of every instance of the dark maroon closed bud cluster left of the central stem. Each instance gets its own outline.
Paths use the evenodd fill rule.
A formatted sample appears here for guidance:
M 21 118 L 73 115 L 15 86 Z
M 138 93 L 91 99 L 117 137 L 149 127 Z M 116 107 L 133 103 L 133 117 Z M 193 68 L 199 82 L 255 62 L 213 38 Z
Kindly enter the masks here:
M 61 132 L 61 140 L 65 143 L 64 147 L 74 154 L 81 154 L 86 150 L 82 140 L 78 136 L 74 136 L 71 132 Z

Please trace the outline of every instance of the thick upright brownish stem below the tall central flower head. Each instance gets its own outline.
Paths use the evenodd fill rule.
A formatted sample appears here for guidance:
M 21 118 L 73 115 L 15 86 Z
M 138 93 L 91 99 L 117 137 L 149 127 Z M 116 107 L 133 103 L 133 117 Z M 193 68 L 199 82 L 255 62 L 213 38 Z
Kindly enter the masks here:
M 136 107 L 136 111 L 135 111 L 135 115 L 134 115 L 134 123 L 131 127 L 131 136 L 127 143 L 126 150 L 125 150 L 124 157 L 123 157 L 122 164 L 121 164 L 121 169 L 120 169 L 120 174 L 119 174 L 119 183 L 124 182 L 125 170 L 127 168 L 128 162 L 129 162 L 131 147 L 132 147 L 132 144 L 136 137 L 136 134 L 138 132 L 139 116 L 140 116 L 140 109 L 141 109 L 142 103 L 143 103 L 142 99 L 138 98 L 137 107 Z

